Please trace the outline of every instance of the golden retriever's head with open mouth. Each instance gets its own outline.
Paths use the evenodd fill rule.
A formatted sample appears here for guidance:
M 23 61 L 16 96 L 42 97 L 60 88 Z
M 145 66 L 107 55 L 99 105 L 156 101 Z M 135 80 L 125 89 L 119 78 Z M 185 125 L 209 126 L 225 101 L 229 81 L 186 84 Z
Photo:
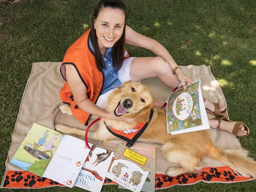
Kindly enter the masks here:
M 152 102 L 151 94 L 145 85 L 127 81 L 109 96 L 106 110 L 113 112 L 115 116 L 124 115 L 147 122 Z

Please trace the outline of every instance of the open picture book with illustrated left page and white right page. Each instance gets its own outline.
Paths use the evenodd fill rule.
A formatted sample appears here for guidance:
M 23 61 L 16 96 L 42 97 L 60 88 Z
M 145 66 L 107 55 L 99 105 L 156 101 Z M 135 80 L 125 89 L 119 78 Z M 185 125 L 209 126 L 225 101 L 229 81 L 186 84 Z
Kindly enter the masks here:
M 89 151 L 83 140 L 34 123 L 11 164 L 72 188 Z

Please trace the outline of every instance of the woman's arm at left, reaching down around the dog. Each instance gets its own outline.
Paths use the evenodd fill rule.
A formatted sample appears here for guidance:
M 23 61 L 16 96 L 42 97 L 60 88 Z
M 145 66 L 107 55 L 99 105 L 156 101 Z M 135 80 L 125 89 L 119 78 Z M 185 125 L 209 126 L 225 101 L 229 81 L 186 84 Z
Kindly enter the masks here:
M 95 105 L 95 103 L 93 103 L 91 100 L 89 100 L 89 98 L 87 98 L 86 87 L 84 86 L 74 66 L 66 65 L 65 67 L 69 88 L 74 96 L 76 104 L 78 105 L 78 107 L 80 107 L 80 109 L 82 109 L 86 113 L 97 115 L 111 120 L 129 122 L 133 121 L 133 119 L 116 117 L 113 113 L 109 113 Z

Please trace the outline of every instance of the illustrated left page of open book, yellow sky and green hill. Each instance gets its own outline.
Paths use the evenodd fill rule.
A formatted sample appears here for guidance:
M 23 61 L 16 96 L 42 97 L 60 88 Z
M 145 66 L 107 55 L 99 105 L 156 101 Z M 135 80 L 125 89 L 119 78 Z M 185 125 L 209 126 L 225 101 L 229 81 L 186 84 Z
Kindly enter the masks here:
M 61 133 L 34 123 L 11 164 L 42 177 L 62 137 Z

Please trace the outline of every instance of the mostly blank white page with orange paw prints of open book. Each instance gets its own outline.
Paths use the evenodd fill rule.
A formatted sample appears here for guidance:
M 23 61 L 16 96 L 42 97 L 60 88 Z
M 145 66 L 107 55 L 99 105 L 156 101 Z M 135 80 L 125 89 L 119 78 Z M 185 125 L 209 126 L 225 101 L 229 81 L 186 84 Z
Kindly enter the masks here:
M 72 188 L 89 151 L 84 140 L 64 135 L 43 177 Z

